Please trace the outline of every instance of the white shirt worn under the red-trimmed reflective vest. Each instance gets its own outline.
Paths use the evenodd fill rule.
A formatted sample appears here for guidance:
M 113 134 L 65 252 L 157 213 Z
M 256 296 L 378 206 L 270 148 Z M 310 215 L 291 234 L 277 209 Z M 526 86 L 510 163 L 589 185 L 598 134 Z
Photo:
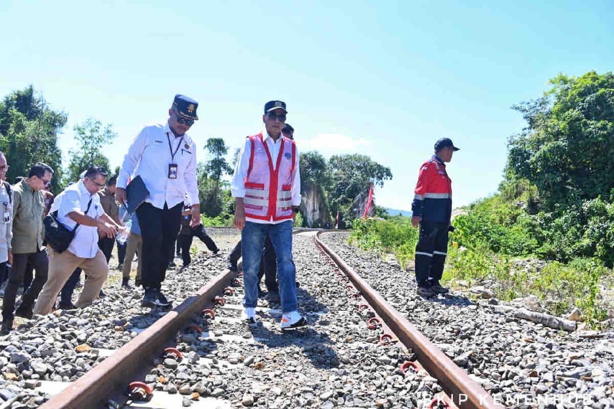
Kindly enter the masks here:
M 273 170 L 277 166 L 277 157 L 279 156 L 279 149 L 281 148 L 281 134 L 279 135 L 278 140 L 274 140 L 266 129 L 262 130 L 262 138 L 263 142 L 266 143 L 266 146 L 271 153 L 271 160 L 273 161 Z M 236 162 L 235 175 L 232 179 L 232 184 L 230 186 L 230 191 L 233 197 L 245 197 L 245 178 L 247 177 L 247 170 L 249 169 L 249 157 L 252 152 L 252 143 L 249 138 L 245 139 L 245 145 L 243 145 L 243 149 L 241 149 L 241 153 L 239 153 L 239 160 Z M 301 204 L 301 175 L 298 167 L 298 148 L 295 150 L 294 161 L 296 164 L 296 174 L 294 175 L 294 180 L 292 182 L 292 205 L 300 206 Z M 277 224 L 282 223 L 287 220 L 277 220 L 273 221 L 273 217 L 271 220 L 259 220 L 252 219 L 249 216 L 246 217 L 247 221 L 252 221 L 254 223 L 261 224 Z

